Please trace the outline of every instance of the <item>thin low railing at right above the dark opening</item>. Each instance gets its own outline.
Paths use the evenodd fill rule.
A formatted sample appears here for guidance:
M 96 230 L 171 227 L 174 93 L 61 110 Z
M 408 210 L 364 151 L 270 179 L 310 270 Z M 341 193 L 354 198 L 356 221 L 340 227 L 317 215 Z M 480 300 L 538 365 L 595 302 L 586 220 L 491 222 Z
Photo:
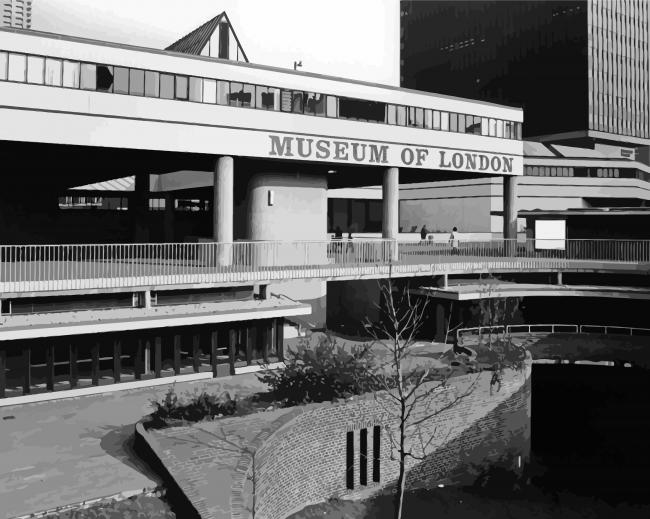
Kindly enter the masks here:
M 510 324 L 499 326 L 475 326 L 472 328 L 459 328 L 456 330 L 456 339 L 461 340 L 465 335 L 481 337 L 484 334 L 512 335 L 534 333 L 593 333 L 601 335 L 631 335 L 650 336 L 650 328 L 634 326 L 610 326 L 598 324 Z

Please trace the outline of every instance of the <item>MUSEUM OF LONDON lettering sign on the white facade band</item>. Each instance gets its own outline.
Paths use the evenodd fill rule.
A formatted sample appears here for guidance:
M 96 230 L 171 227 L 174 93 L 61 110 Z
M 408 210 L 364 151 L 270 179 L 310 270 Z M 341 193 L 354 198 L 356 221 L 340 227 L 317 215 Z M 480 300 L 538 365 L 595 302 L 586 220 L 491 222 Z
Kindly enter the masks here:
M 347 139 L 269 135 L 269 157 L 331 160 L 350 164 L 513 173 L 514 157 L 432 146 L 368 144 Z

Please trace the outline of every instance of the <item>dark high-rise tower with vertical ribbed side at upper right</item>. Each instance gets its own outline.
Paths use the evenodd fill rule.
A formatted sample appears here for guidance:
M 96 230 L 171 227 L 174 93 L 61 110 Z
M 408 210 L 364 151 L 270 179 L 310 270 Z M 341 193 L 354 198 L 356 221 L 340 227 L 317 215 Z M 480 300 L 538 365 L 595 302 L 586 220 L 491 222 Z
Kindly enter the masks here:
M 526 138 L 650 144 L 645 0 L 407 1 L 401 23 L 405 87 L 522 106 Z

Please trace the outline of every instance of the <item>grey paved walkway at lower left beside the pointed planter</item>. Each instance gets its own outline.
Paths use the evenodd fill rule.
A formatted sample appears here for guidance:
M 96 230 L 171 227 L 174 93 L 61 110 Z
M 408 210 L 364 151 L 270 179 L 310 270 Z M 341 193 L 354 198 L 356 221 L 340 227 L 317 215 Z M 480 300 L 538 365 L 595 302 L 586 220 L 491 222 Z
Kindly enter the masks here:
M 0 409 L 0 518 L 10 518 L 124 491 L 157 486 L 133 455 L 135 423 L 169 386 L 10 406 Z M 254 374 L 176 385 L 251 394 Z

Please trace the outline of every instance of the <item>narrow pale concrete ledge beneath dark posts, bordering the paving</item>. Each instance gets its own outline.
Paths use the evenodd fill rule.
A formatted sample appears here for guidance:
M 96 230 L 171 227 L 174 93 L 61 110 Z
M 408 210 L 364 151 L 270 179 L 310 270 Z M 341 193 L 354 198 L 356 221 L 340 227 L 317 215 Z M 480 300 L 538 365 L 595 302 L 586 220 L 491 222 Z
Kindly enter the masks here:
M 77 389 L 66 389 L 62 391 L 53 391 L 50 393 L 38 393 L 35 395 L 22 395 L 0 399 L 0 407 L 9 407 L 12 405 L 32 404 L 36 402 L 46 402 L 49 400 L 61 400 L 64 398 L 76 398 L 80 396 L 100 395 L 102 393 L 112 393 L 114 391 L 125 391 L 127 389 L 139 389 L 153 386 L 164 386 L 165 384 L 174 384 L 176 382 L 191 382 L 194 380 L 204 380 L 212 377 L 211 371 L 203 373 L 190 373 L 188 375 L 176 375 L 174 377 L 152 378 L 149 380 L 135 380 L 132 382 L 118 382 L 116 384 L 107 384 L 105 386 L 82 387 Z

